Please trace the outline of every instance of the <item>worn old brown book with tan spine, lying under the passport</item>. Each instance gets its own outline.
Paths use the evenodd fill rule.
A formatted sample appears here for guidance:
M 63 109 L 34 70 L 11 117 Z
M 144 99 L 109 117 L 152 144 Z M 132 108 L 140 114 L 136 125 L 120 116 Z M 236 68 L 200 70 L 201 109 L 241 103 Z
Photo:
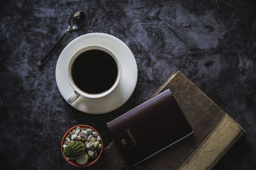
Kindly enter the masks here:
M 142 162 L 141 169 L 211 169 L 244 130 L 184 74 L 177 71 L 157 90 L 170 89 L 194 134 Z M 90 169 L 122 169 L 129 166 L 112 142 Z

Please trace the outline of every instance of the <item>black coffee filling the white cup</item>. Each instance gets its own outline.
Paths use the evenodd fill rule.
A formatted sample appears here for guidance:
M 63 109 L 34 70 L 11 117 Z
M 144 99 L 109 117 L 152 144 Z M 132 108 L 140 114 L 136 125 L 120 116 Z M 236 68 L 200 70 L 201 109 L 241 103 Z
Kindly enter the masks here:
M 76 86 L 88 94 L 109 90 L 116 81 L 116 62 L 102 50 L 88 50 L 74 60 L 71 68 Z

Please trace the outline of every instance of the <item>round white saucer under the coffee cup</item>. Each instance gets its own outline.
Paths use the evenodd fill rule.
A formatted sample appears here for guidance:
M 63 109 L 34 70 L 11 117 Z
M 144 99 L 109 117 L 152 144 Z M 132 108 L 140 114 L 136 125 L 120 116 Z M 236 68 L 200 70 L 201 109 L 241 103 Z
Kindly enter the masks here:
M 87 45 L 106 46 L 116 53 L 116 57 L 118 57 L 121 63 L 122 75 L 118 86 L 113 92 L 108 94 L 108 96 L 98 99 L 89 99 L 79 96 L 78 99 L 70 105 L 84 113 L 93 114 L 108 113 L 109 111 L 116 110 L 131 97 L 137 83 L 138 68 L 134 55 L 129 47 L 120 39 L 109 34 L 85 34 L 74 39 L 64 48 L 56 64 L 56 83 L 58 89 L 67 101 L 68 97 L 70 97 L 74 91 L 67 78 L 68 59 L 70 59 L 72 54 L 79 48 Z

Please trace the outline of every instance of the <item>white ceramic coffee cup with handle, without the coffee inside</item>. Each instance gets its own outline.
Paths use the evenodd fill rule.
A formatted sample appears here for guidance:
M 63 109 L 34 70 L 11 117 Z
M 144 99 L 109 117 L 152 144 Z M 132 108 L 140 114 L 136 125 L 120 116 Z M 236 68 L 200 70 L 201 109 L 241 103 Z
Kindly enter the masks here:
M 79 87 L 77 87 L 76 83 L 74 83 L 74 80 L 72 78 L 72 65 L 73 65 L 74 61 L 81 53 L 86 52 L 87 50 L 102 50 L 102 51 L 108 53 L 109 55 L 111 55 L 111 57 L 113 57 L 113 59 L 116 62 L 117 76 L 116 76 L 115 83 L 113 83 L 113 85 L 110 89 L 108 89 L 100 94 L 88 94 L 88 93 L 82 91 L 81 89 L 79 89 Z M 70 103 L 70 104 L 73 103 L 74 101 L 76 101 L 76 99 L 79 96 L 84 96 L 84 97 L 88 97 L 88 98 L 92 98 L 92 99 L 107 96 L 118 85 L 118 83 L 120 81 L 121 73 L 122 73 L 122 69 L 121 69 L 120 61 L 116 57 L 115 53 L 113 53 L 109 48 L 107 48 L 105 46 L 101 46 L 101 45 L 88 45 L 88 46 L 84 46 L 83 48 L 80 48 L 72 55 L 72 57 L 70 57 L 70 60 L 68 61 L 67 78 L 68 78 L 68 82 L 70 83 L 71 87 L 74 89 L 74 92 L 72 92 L 72 94 L 70 94 L 70 97 L 67 100 L 68 103 Z M 90 80 L 88 80 L 88 81 L 90 81 Z

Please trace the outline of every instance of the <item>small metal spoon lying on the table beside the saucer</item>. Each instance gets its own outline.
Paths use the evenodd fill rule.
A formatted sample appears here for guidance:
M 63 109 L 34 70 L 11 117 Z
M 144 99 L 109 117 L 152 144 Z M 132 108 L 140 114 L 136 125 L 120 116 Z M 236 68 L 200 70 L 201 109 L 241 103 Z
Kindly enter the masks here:
M 68 29 L 67 31 L 64 32 L 64 34 L 61 36 L 60 40 L 53 46 L 53 48 L 44 56 L 44 58 L 42 60 L 40 60 L 37 65 L 41 66 L 44 62 L 44 60 L 49 57 L 49 55 L 51 54 L 51 52 L 54 50 L 54 48 L 56 48 L 56 46 L 60 43 L 60 41 L 67 36 L 69 31 L 72 30 L 76 30 L 79 29 L 80 27 L 83 26 L 84 24 L 84 20 L 85 20 L 85 14 L 83 11 L 77 11 L 76 13 L 74 13 L 74 15 L 72 17 L 70 17 L 69 19 L 69 25 L 68 25 Z

